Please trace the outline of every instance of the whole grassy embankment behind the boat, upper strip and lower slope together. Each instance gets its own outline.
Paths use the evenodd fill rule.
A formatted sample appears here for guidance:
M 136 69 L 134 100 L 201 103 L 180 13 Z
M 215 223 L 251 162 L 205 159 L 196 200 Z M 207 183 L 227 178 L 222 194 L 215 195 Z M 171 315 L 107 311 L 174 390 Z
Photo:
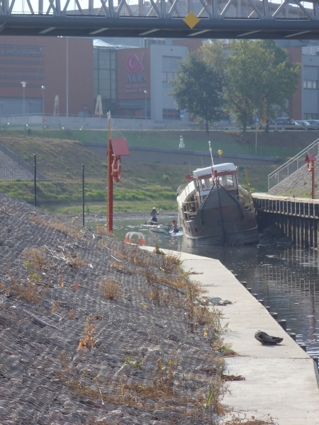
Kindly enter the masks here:
M 106 132 L 86 131 L 85 138 L 101 139 L 105 141 Z M 66 202 L 69 198 L 81 200 L 81 182 L 79 181 L 80 169 L 85 165 L 85 196 L 86 211 L 105 210 L 106 193 L 106 159 L 89 152 L 81 143 L 74 140 L 61 138 L 47 138 L 48 135 L 61 135 L 59 130 L 33 131 L 32 137 L 13 137 L 13 132 L 2 132 L 0 142 L 11 151 L 33 162 L 33 154 L 37 154 L 38 170 L 48 181 L 38 182 L 38 199 L 55 199 L 55 203 L 48 204 L 47 209 L 55 210 L 59 203 Z M 248 132 L 247 145 L 240 142 L 240 132 L 177 132 L 177 131 L 113 131 L 112 137 L 127 137 L 130 145 L 157 146 L 176 148 L 179 134 L 183 135 L 185 145 L 189 149 L 204 150 L 211 140 L 218 149 L 229 153 L 243 153 L 242 149 L 253 147 L 254 132 Z M 46 136 L 44 138 L 43 136 Z M 75 137 L 73 130 L 70 137 Z M 301 150 L 313 142 L 317 132 L 264 132 L 258 134 L 259 145 L 268 149 L 277 147 L 282 152 L 293 149 Z M 94 141 L 94 140 L 92 140 Z M 96 140 L 97 141 L 97 140 Z M 270 149 L 270 150 L 269 150 Z M 285 150 L 286 149 L 286 150 Z M 237 150 L 237 152 L 236 152 Z M 240 152 L 239 152 L 240 151 Z M 281 159 L 281 162 L 284 159 Z M 267 191 L 267 175 L 276 169 L 279 163 L 273 165 L 247 166 L 250 176 L 252 191 Z M 172 165 L 161 163 L 123 162 L 121 182 L 114 189 L 114 210 L 139 211 L 149 210 L 152 206 L 164 210 L 176 210 L 176 190 L 183 183 L 184 176 L 194 168 L 189 164 Z M 74 170 L 78 170 L 74 174 Z M 57 181 L 59 182 L 57 185 Z M 18 198 L 33 198 L 33 182 L 27 181 L 2 181 L 0 191 Z M 74 193 L 75 192 L 75 193 Z

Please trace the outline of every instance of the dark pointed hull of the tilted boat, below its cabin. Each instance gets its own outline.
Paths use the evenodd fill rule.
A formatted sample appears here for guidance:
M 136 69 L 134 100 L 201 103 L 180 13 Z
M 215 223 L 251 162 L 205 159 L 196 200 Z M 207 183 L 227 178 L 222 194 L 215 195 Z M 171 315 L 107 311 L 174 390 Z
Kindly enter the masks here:
M 180 210 L 184 234 L 193 244 L 244 245 L 259 241 L 254 210 L 224 188 L 213 188 L 191 220 L 184 220 Z

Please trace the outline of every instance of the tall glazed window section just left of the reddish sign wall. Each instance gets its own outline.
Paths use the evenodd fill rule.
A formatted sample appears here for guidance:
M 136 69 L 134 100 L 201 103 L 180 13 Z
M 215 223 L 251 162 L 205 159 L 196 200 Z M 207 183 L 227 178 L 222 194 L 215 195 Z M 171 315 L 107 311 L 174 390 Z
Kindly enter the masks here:
M 101 96 L 103 113 L 116 105 L 116 51 L 94 48 L 94 102 Z

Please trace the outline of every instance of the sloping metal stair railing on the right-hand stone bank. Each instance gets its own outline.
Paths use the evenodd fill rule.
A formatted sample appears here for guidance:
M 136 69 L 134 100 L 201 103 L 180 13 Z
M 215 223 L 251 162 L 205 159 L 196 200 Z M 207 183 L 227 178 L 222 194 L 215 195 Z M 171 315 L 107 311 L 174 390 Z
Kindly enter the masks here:
M 289 159 L 289 161 L 285 162 L 285 164 L 282 164 L 279 168 L 269 174 L 268 191 L 304 166 L 306 154 L 315 154 L 316 157 L 319 155 L 319 139 L 315 140 L 315 142 L 311 145 L 303 149 L 293 158 Z

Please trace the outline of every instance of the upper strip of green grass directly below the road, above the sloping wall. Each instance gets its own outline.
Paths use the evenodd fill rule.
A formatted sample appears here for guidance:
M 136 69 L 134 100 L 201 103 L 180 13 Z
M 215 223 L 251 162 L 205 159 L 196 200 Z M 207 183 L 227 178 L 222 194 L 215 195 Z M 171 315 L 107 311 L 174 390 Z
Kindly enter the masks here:
M 283 132 L 284 133 L 284 132 Z M 298 137 L 296 134 L 291 134 L 291 137 Z M 293 132 L 296 133 L 296 132 Z M 299 134 L 301 132 L 298 132 Z M 304 132 L 308 133 L 310 132 Z M 315 137 L 312 132 L 313 137 Z M 228 154 L 255 154 L 253 131 L 247 132 L 247 143 L 240 141 L 241 132 L 222 132 L 215 131 L 209 135 L 203 131 L 174 131 L 174 130 L 112 130 L 111 137 L 125 137 L 130 146 L 141 147 L 160 147 L 165 149 L 177 149 L 179 146 L 179 135 L 184 137 L 185 149 L 196 151 L 208 151 L 208 140 L 211 141 L 213 152 L 222 149 L 223 152 Z M 0 132 L 0 136 L 6 137 L 23 137 L 22 130 L 10 130 Z M 306 137 L 306 134 L 301 135 Z M 274 133 L 270 133 L 269 137 L 274 139 Z M 279 137 L 277 135 L 277 137 Z M 290 138 L 291 138 L 290 137 Z M 26 137 L 33 141 L 37 139 L 45 140 L 72 140 L 81 143 L 96 142 L 106 143 L 108 134 L 106 130 L 32 130 L 32 136 Z M 263 132 L 258 132 L 257 135 L 257 154 L 266 157 L 293 157 L 301 149 L 296 144 L 286 143 L 286 146 L 281 146 L 278 143 L 267 144 L 267 137 L 265 139 Z M 308 143 L 310 144 L 310 142 Z M 298 143 L 297 143 L 298 145 Z M 300 145 L 300 143 L 299 143 Z M 28 158 L 31 160 L 31 155 Z

